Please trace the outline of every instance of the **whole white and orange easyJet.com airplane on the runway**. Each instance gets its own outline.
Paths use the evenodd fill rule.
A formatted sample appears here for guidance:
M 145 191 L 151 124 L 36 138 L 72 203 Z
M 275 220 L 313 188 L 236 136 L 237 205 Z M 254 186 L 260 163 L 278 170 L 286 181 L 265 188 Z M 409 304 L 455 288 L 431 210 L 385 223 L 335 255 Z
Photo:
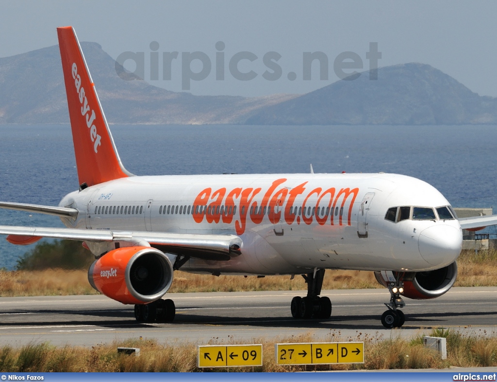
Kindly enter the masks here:
M 390 292 L 385 327 L 400 327 L 402 297 L 443 295 L 457 276 L 461 228 L 497 216 L 458 220 L 447 199 L 396 174 L 134 176 L 119 159 L 72 27 L 57 28 L 80 188 L 58 207 L 0 203 L 59 216 L 67 228 L 0 226 L 10 243 L 42 237 L 83 241 L 95 256 L 93 288 L 135 305 L 138 321 L 170 321 L 162 299 L 173 271 L 300 274 L 307 296 L 294 318 L 331 316 L 320 297 L 326 269 L 375 272 Z

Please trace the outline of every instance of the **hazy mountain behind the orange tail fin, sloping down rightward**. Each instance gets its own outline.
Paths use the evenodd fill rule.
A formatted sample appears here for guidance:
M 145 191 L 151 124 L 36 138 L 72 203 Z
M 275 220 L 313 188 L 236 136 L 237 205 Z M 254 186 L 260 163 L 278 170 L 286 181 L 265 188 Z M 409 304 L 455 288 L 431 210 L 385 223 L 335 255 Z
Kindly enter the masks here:
M 125 81 L 96 43 L 81 44 L 109 123 L 237 124 L 249 112 L 295 95 L 194 96 L 150 85 L 133 74 Z M 59 47 L 0 58 L 0 124 L 69 123 Z

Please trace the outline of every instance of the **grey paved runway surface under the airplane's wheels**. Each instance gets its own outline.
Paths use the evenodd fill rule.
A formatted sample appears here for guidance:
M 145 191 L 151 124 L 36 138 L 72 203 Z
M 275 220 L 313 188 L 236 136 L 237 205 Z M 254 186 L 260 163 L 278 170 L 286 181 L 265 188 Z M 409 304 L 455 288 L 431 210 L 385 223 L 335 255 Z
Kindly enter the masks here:
M 0 345 L 48 341 L 93 346 L 127 338 L 160 343 L 259 343 L 268 339 L 335 342 L 365 336 L 385 339 L 429 333 L 432 327 L 497 335 L 497 287 L 452 288 L 433 300 L 405 299 L 406 323 L 385 329 L 380 322 L 389 301 L 383 289 L 324 291 L 333 304 L 327 320 L 291 317 L 293 296 L 303 291 L 166 294 L 176 305 L 172 323 L 137 323 L 133 306 L 104 296 L 1 297 Z M 293 336 L 293 337 L 292 337 Z

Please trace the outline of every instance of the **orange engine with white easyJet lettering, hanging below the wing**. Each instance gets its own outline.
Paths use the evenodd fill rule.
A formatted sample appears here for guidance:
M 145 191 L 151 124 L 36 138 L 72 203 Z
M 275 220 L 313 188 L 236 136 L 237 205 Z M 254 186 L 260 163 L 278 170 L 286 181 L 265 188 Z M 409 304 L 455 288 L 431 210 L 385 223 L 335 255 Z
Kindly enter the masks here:
M 90 285 L 123 304 L 160 299 L 172 284 L 172 265 L 164 253 L 150 247 L 125 247 L 98 258 L 88 269 Z

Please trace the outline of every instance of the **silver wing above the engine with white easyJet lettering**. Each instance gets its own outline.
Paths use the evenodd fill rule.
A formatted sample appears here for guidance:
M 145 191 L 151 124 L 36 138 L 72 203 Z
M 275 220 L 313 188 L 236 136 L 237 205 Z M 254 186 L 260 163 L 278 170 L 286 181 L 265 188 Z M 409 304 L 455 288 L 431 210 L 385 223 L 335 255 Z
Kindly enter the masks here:
M 185 255 L 207 260 L 229 260 L 241 255 L 242 239 L 235 235 L 176 234 L 148 231 L 110 231 L 73 228 L 0 226 L 0 235 L 12 235 L 12 243 L 25 238 L 54 238 L 86 242 L 146 241 L 165 253 Z M 17 240 L 20 238 L 20 240 Z M 7 237 L 9 240 L 9 237 Z

